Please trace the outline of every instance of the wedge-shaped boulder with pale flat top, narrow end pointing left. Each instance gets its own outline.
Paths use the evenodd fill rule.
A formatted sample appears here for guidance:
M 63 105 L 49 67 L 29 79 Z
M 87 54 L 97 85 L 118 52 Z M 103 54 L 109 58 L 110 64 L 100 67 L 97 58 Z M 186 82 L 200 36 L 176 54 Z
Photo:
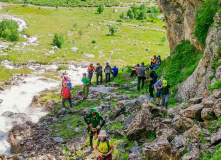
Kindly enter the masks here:
M 181 111 L 180 113 L 185 117 L 200 120 L 202 108 L 203 108 L 202 104 L 195 104 Z

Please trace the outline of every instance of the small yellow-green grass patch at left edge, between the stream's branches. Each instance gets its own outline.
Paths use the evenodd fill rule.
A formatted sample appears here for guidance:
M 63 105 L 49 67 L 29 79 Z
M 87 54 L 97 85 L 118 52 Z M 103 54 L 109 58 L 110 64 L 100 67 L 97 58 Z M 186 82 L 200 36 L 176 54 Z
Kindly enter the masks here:
M 33 70 L 28 68 L 22 68 L 22 69 L 6 69 L 3 66 L 0 66 L 0 82 L 8 81 L 14 74 L 20 73 L 20 74 L 30 74 Z

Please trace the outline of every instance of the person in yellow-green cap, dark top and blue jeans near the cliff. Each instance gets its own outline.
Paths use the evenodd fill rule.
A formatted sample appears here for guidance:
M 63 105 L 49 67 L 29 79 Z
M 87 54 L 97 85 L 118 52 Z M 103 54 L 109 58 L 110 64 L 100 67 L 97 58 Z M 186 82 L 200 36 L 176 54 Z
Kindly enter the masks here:
M 167 108 L 168 106 L 168 100 L 169 100 L 169 89 L 170 89 L 170 93 L 171 95 L 173 94 L 172 92 L 172 87 L 167 84 L 166 80 L 163 80 L 163 88 L 162 88 L 162 105 Z

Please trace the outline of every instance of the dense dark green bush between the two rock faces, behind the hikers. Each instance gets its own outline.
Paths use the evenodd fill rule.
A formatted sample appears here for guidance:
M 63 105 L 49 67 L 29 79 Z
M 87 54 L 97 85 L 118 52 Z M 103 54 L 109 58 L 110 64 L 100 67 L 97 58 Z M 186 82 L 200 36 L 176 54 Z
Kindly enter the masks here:
M 169 84 L 175 86 L 193 73 L 202 55 L 202 53 L 196 53 L 189 41 L 183 41 L 175 47 L 171 56 L 162 61 L 161 66 L 156 70 L 158 77 L 164 75 Z

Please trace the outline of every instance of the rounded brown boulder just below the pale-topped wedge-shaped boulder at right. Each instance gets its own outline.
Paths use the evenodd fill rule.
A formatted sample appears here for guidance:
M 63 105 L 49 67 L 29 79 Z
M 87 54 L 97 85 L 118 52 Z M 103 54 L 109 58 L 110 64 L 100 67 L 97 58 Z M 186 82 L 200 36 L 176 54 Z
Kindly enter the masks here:
M 181 117 L 175 122 L 175 127 L 179 132 L 185 132 L 194 125 L 194 121 L 190 118 Z

